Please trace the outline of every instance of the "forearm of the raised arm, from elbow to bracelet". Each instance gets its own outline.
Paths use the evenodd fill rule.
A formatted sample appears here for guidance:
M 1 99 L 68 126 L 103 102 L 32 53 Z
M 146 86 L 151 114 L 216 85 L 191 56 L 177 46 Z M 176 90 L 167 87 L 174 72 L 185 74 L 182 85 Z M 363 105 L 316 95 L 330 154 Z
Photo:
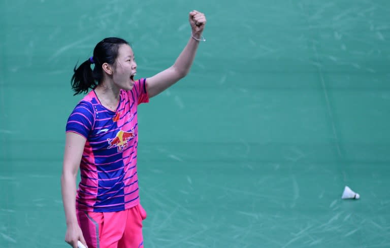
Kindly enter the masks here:
M 176 59 L 173 67 L 181 77 L 185 77 L 188 74 L 192 62 L 197 53 L 198 47 L 199 47 L 199 41 L 190 37 L 187 45 L 184 47 L 183 51 Z

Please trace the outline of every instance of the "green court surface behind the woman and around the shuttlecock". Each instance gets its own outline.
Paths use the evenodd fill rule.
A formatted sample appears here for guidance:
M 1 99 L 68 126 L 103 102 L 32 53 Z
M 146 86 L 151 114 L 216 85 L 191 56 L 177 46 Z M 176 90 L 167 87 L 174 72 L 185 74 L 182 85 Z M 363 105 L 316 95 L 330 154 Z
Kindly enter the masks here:
M 118 36 L 150 77 L 193 9 L 208 23 L 191 72 L 138 110 L 145 247 L 390 246 L 390 2 L 196 2 L 0 2 L 0 247 L 70 247 L 76 62 Z

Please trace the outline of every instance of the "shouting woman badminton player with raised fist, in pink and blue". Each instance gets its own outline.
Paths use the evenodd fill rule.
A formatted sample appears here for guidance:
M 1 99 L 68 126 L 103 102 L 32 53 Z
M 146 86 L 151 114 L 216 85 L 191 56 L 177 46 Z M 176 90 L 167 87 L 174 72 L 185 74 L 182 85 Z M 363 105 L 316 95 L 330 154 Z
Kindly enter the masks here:
M 143 247 L 137 177 L 137 105 L 148 102 L 189 72 L 206 24 L 191 11 L 191 37 L 175 63 L 151 78 L 135 80 L 137 64 L 120 38 L 99 42 L 93 56 L 74 69 L 75 94 L 92 89 L 70 115 L 61 189 L 67 221 L 65 241 L 89 248 Z M 94 64 L 93 70 L 91 64 Z M 76 175 L 81 182 L 76 191 Z

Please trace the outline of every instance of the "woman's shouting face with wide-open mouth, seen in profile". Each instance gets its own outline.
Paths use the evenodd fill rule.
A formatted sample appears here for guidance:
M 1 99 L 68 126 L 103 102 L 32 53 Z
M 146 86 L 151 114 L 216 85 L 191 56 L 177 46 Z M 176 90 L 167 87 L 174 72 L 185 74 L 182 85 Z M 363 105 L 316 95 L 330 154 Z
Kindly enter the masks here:
M 127 44 L 121 44 L 118 49 L 115 70 L 112 75 L 114 84 L 120 89 L 131 90 L 134 86 L 134 76 L 137 73 L 137 63 L 133 49 Z

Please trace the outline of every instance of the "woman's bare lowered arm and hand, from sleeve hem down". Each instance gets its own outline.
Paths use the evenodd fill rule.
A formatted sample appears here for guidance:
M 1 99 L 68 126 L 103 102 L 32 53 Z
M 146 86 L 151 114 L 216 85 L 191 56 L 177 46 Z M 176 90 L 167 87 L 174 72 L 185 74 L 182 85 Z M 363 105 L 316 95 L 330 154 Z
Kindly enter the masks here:
M 85 141 L 85 137 L 80 134 L 75 132 L 66 133 L 61 175 L 61 193 L 67 221 L 65 241 L 73 248 L 77 248 L 77 240 L 80 240 L 86 246 L 76 216 L 76 176 L 80 167 Z

